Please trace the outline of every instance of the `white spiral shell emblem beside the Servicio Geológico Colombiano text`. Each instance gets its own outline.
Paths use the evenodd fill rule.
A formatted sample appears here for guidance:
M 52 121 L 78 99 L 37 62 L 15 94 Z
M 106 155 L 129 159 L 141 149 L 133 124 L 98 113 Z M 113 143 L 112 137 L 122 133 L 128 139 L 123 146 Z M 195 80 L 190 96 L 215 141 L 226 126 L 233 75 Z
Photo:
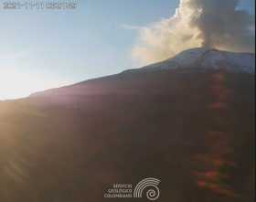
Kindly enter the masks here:
M 145 196 L 151 201 L 156 200 L 160 197 L 160 190 L 158 188 L 160 182 L 159 179 L 145 178 L 135 186 L 133 197 L 143 197 L 144 190 L 148 188 Z

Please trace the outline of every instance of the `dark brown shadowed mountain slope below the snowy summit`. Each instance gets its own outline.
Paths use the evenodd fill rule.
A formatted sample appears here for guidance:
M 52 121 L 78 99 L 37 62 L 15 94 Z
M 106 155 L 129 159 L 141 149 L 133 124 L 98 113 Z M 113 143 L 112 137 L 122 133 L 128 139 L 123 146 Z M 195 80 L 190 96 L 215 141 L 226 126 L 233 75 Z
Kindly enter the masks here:
M 0 201 L 103 198 L 161 179 L 165 202 L 252 202 L 254 75 L 126 72 L 0 102 Z

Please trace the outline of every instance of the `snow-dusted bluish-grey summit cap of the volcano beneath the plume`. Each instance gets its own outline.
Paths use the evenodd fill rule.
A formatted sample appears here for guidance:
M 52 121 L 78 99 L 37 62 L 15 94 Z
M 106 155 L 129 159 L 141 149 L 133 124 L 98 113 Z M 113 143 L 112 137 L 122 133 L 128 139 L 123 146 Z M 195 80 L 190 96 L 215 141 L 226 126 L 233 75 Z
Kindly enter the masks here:
M 226 69 L 230 72 L 255 73 L 255 54 L 193 48 L 140 70 L 177 68 Z

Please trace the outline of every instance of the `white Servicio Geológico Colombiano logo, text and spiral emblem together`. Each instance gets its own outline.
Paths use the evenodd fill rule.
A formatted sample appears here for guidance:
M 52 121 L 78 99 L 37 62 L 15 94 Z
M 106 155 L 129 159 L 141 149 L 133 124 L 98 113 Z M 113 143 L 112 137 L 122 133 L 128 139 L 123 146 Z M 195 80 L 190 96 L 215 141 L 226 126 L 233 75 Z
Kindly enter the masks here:
M 113 184 L 108 188 L 103 197 L 106 198 L 142 198 L 155 201 L 160 197 L 160 180 L 149 177 L 140 181 L 133 189 L 132 184 Z

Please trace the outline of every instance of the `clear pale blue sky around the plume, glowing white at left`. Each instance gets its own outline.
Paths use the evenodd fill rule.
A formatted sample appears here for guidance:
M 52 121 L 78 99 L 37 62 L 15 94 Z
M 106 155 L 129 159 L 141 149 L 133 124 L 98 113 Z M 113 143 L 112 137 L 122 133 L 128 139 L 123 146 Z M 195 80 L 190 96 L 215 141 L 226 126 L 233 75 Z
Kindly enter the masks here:
M 79 0 L 75 9 L 54 11 L 4 9 L 4 2 L 0 0 L 0 100 L 138 68 L 132 56 L 137 27 L 174 15 L 179 3 Z M 240 7 L 250 10 L 251 1 L 241 1 Z

